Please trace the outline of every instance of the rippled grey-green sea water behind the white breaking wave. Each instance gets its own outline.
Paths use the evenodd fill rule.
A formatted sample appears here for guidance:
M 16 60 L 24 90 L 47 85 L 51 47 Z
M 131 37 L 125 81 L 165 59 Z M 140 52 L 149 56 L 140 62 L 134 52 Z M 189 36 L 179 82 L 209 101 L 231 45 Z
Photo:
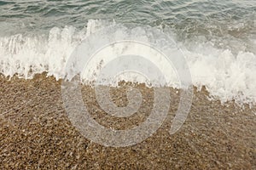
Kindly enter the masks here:
M 87 20 L 116 20 L 162 26 L 180 40 L 230 37 L 253 50 L 256 35 L 254 0 L 5 0 L 0 1 L 0 35 L 38 33 L 52 27 L 86 26 Z

